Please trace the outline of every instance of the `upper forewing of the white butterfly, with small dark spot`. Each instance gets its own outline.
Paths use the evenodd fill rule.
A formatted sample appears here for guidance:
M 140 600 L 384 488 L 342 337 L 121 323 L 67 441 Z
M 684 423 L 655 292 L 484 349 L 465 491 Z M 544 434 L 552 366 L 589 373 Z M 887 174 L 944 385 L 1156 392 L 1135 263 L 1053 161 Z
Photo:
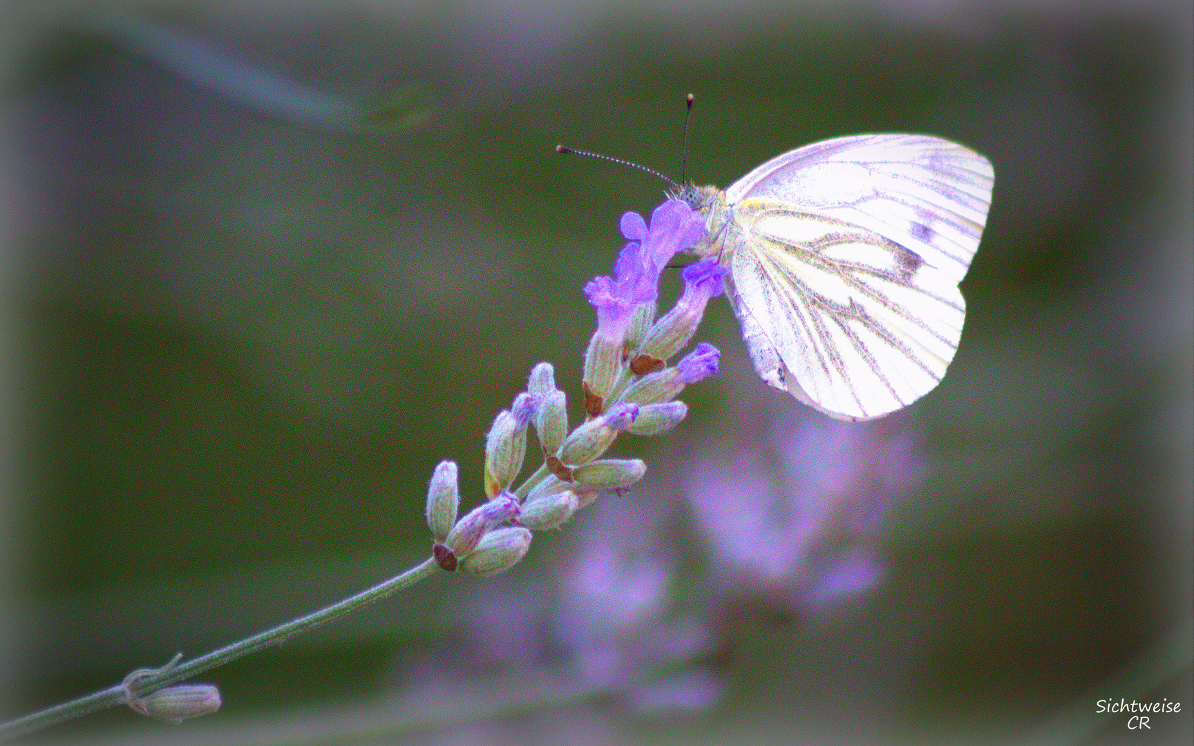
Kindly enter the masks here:
M 928 135 L 855 135 L 767 161 L 726 190 L 869 228 L 960 282 L 991 206 L 990 161 Z

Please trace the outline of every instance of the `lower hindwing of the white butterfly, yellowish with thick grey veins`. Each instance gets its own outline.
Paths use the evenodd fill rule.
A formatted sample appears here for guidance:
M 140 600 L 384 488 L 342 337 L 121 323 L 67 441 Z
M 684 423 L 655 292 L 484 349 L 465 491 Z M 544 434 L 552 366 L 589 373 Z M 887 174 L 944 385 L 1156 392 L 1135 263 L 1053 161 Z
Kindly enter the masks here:
M 731 297 L 759 375 L 843 419 L 906 406 L 944 375 L 965 307 L 954 280 L 851 223 L 747 199 Z

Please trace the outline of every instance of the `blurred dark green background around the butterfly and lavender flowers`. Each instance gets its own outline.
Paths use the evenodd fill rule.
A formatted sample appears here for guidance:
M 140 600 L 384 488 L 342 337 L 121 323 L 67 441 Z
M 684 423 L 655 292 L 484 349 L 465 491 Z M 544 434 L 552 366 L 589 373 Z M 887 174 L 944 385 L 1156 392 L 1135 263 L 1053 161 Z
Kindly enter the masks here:
M 928 476 L 885 584 L 816 634 L 761 625 L 716 708 L 621 714 L 618 739 L 1022 742 L 1137 695 L 1183 711 L 1048 742 L 1189 742 L 1189 7 L 92 11 L 5 11 L 0 715 L 420 560 L 431 469 L 458 461 L 476 499 L 484 433 L 538 360 L 576 399 L 580 288 L 621 212 L 661 196 L 554 146 L 678 177 L 691 91 L 698 183 L 922 131 L 987 155 L 995 198 L 958 357 L 913 413 Z M 728 372 L 688 397 L 683 437 L 753 386 L 720 301 L 700 338 Z M 560 551 L 537 537 L 512 573 Z M 398 685 L 396 654 L 451 647 L 484 582 L 438 577 L 201 677 L 226 703 L 205 721 L 112 710 L 43 738 L 336 734 Z M 1132 690 L 1147 655 L 1176 662 Z M 319 742 L 496 742 L 457 735 Z

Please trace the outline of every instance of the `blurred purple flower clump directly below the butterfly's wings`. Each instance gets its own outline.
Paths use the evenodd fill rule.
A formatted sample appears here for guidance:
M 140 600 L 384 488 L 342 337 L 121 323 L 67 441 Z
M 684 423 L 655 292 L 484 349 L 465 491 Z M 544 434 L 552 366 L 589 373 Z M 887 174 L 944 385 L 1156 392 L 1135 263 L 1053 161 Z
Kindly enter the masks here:
M 746 593 L 824 616 L 873 587 L 874 531 L 923 469 L 913 437 L 893 418 L 790 412 L 736 443 L 702 449 L 685 491 L 726 603 Z

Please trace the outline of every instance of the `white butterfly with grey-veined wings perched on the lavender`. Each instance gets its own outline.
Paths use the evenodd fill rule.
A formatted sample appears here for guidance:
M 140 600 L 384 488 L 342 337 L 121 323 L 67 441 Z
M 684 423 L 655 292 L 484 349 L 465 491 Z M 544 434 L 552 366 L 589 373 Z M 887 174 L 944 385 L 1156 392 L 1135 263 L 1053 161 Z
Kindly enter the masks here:
M 773 158 L 724 192 L 675 196 L 708 218 L 694 251 L 730 267 L 759 376 L 867 420 L 946 375 L 993 180 L 990 161 L 938 137 L 855 135 Z

